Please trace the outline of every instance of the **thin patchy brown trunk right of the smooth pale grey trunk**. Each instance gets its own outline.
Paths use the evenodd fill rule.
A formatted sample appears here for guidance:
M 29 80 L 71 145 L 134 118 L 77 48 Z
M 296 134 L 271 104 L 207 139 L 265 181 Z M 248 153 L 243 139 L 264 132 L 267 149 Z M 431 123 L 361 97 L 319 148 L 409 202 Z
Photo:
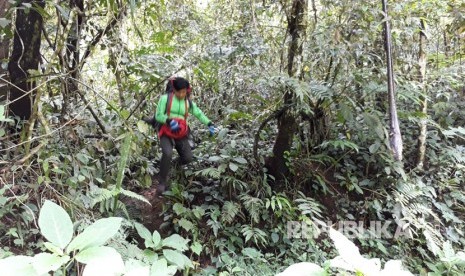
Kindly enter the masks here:
M 420 21 L 420 49 L 418 55 L 418 65 L 419 65 L 419 82 L 422 88 L 422 97 L 421 97 L 421 113 L 422 117 L 420 121 L 420 135 L 418 137 L 418 156 L 417 156 L 417 168 L 423 170 L 425 164 L 425 154 L 426 154 L 426 122 L 427 122 L 427 112 L 428 112 L 428 97 L 426 91 L 426 24 L 425 20 L 421 19 Z

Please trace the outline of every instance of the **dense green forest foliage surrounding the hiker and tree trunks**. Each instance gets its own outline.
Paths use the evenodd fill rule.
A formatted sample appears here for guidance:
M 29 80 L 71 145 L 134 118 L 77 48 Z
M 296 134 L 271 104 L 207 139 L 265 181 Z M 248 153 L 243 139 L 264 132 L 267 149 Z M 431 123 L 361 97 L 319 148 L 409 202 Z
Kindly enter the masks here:
M 320 275 L 370 275 L 376 257 L 386 270 L 399 259 L 414 274 L 465 273 L 465 2 L 389 3 L 404 144 L 396 161 L 381 2 L 303 1 L 301 70 L 290 75 L 298 1 L 12 3 L 2 41 L 18 10 L 44 25 L 40 68 L 29 70 L 37 109 L 18 120 L 0 98 L 0 267 L 15 256 L 32 274 L 92 275 L 106 260 L 128 275 L 275 275 L 311 262 Z M 171 75 L 191 81 L 220 131 L 211 137 L 189 119 L 195 161 L 174 168 L 163 199 L 150 198 L 161 152 L 141 118 Z M 276 181 L 265 164 L 284 109 L 296 129 L 289 174 Z M 328 226 L 367 262 L 331 264 L 342 241 L 345 256 L 358 250 Z

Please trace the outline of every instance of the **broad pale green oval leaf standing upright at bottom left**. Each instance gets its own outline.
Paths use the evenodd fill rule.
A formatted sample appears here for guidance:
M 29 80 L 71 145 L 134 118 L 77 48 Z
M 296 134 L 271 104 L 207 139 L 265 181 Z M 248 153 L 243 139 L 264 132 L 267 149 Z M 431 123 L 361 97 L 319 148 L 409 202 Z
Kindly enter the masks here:
M 73 237 L 73 223 L 66 211 L 57 204 L 45 201 L 39 213 L 42 235 L 52 244 L 65 248 Z

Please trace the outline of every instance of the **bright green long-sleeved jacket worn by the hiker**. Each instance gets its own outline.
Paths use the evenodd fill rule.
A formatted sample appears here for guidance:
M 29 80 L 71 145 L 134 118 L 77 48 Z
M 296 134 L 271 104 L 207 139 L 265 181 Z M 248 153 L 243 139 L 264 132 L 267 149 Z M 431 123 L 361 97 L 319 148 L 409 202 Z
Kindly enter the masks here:
M 169 100 L 169 94 L 163 94 L 158 101 L 157 111 L 155 112 L 155 120 L 159 123 L 166 123 L 166 119 L 168 119 L 168 114 L 166 110 L 166 102 Z M 184 119 L 184 114 L 186 112 L 186 104 L 185 100 L 178 100 L 176 96 L 173 95 L 173 101 L 171 102 L 171 110 L 169 118 L 181 118 Z M 202 124 L 208 125 L 211 121 L 208 117 L 197 107 L 197 105 L 190 101 L 192 106 L 189 106 L 189 102 L 187 102 L 187 106 L 189 108 L 189 113 L 194 115 Z

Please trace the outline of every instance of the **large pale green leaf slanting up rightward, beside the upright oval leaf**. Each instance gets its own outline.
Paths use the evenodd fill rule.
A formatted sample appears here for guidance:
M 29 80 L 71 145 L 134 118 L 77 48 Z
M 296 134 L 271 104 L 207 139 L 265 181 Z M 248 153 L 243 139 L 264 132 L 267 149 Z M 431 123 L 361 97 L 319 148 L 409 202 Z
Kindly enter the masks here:
M 118 232 L 122 220 L 116 217 L 97 220 L 71 241 L 66 249 L 67 252 L 105 244 Z

